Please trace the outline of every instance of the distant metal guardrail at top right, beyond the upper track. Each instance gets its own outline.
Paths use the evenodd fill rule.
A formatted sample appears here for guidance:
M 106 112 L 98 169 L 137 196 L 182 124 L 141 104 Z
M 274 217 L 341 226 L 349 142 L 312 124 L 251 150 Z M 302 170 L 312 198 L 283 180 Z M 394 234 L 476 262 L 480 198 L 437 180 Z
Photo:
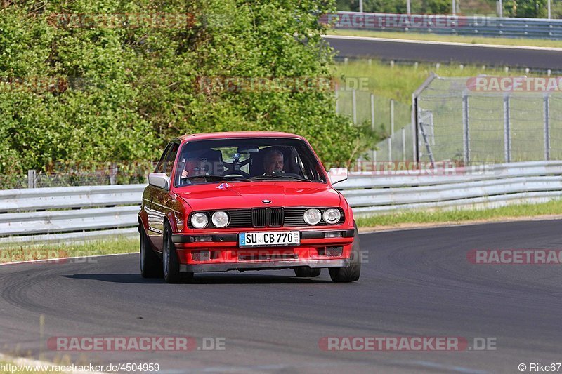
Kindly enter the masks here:
M 562 40 L 562 20 L 547 18 L 338 12 L 320 22 L 335 22 L 336 29 Z

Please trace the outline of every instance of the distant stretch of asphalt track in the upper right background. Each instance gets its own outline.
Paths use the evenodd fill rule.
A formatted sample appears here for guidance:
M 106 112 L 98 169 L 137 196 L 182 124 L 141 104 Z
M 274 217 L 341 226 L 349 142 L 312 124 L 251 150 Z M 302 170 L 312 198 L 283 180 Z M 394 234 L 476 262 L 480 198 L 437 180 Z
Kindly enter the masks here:
M 418 62 L 458 62 L 492 66 L 562 69 L 562 51 L 548 49 L 497 48 L 470 44 L 433 44 L 377 38 L 326 36 L 341 57 L 381 58 Z

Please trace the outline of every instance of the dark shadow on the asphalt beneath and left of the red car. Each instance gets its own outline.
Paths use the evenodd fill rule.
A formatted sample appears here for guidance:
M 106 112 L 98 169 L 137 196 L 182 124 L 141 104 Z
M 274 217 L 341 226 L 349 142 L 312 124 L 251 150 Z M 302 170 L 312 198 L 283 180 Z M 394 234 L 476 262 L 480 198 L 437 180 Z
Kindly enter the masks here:
M 143 278 L 140 274 L 73 274 L 63 275 L 70 279 L 84 279 L 91 281 L 104 281 L 112 283 L 164 283 L 161 278 Z M 289 275 L 270 275 L 270 274 L 196 274 L 189 281 L 190 284 L 246 284 L 246 283 L 332 283 L 327 279 L 296 278 Z

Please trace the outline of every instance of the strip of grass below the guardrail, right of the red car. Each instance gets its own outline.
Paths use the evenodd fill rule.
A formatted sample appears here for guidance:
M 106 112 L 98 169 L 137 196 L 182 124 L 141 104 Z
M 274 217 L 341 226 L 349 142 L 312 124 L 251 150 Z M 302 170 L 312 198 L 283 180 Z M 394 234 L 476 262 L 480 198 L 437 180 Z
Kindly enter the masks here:
M 537 217 L 541 215 L 562 214 L 562 200 L 547 203 L 517 204 L 501 208 L 453 211 L 407 211 L 357 218 L 359 227 L 392 227 L 402 224 L 459 223 L 466 221 L 503 220 L 517 217 Z

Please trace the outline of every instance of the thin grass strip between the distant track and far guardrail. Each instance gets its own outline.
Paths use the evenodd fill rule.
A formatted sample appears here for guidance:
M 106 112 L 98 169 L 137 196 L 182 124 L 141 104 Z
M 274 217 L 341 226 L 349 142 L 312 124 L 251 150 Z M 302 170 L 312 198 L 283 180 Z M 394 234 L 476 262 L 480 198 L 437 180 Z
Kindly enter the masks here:
M 560 41 L 544 39 L 511 39 L 485 36 L 437 35 L 420 32 L 388 32 L 368 30 L 331 29 L 329 35 L 368 36 L 372 38 L 412 39 L 426 41 L 453 41 L 469 44 L 497 44 L 504 46 L 561 47 Z

